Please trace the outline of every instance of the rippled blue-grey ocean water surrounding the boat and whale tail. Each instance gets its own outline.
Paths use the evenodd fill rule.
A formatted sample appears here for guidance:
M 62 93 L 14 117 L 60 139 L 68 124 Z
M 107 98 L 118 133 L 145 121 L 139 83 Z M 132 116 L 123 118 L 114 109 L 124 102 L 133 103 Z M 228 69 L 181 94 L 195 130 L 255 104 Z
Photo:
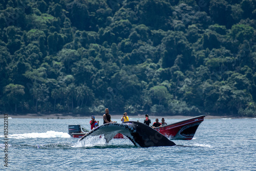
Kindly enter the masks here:
M 205 119 L 192 140 L 148 148 L 136 147 L 129 139 L 106 144 L 97 137 L 81 144 L 69 136 L 69 124 L 90 129 L 89 121 L 9 118 L 5 152 L 4 118 L 0 119 L 0 170 L 256 170 L 256 118 Z

